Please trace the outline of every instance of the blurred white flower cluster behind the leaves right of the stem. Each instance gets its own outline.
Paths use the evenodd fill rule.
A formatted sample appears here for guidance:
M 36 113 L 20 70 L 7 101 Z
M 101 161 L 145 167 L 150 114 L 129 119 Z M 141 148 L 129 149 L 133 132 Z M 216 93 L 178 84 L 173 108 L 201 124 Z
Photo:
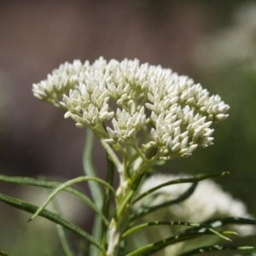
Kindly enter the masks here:
M 140 190 L 140 193 L 148 191 L 162 183 L 173 179 L 189 177 L 186 175 L 165 175 L 154 174 L 149 177 Z M 151 203 L 151 206 L 159 205 L 165 201 L 176 199 L 179 195 L 183 195 L 190 187 L 190 183 L 177 183 L 156 190 L 157 197 Z M 170 220 L 187 221 L 187 222 L 203 222 L 211 218 L 224 217 L 253 217 L 247 212 L 247 207 L 242 201 L 234 199 L 229 193 L 212 180 L 203 180 L 198 183 L 194 193 L 188 199 L 178 204 L 172 205 L 166 210 Z M 256 231 L 254 226 L 241 225 L 234 226 L 235 230 L 241 236 L 253 235 Z

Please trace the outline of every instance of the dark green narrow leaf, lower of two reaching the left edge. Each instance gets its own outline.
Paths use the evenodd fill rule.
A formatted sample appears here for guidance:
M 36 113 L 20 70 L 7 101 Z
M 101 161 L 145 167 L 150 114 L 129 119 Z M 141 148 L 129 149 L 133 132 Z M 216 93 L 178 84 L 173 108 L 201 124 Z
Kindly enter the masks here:
M 2 193 L 0 193 L 0 201 L 3 201 L 4 203 L 8 204 L 9 206 L 16 207 L 25 212 L 34 213 L 34 212 L 38 211 L 37 206 L 34 206 L 27 201 L 21 201 L 19 199 L 9 196 L 9 195 L 3 195 Z M 64 218 L 61 218 L 61 216 L 55 214 L 54 212 L 50 212 L 48 210 L 42 210 L 38 214 L 44 218 L 49 219 L 50 221 L 54 222 L 55 224 L 60 224 L 67 230 L 70 230 L 73 233 L 77 234 L 78 236 L 83 237 L 85 240 L 90 241 L 90 243 L 94 244 L 102 252 L 104 251 L 103 248 L 101 247 L 101 245 L 95 240 L 95 238 L 93 236 L 90 236 L 87 232 L 85 232 L 81 228 L 79 228 L 79 226 L 67 221 Z

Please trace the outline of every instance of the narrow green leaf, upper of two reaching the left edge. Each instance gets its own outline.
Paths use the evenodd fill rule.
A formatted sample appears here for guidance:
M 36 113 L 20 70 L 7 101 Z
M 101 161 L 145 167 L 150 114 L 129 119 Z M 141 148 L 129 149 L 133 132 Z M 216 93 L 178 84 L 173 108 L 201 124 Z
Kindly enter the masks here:
M 46 188 L 46 189 L 56 189 L 62 184 L 61 182 L 45 180 L 42 178 L 19 177 L 19 176 L 9 177 L 5 175 L 0 175 L 0 181 L 5 183 L 15 183 L 20 185 L 36 186 L 36 187 Z M 84 203 L 88 207 L 90 207 L 92 210 L 94 210 L 100 216 L 100 218 L 102 218 L 102 221 L 106 225 L 108 225 L 108 218 L 106 218 L 103 215 L 102 210 L 98 209 L 96 207 L 96 204 L 93 201 L 91 201 L 88 196 L 84 195 L 78 189 L 74 189 L 72 187 L 67 187 L 64 189 L 64 191 L 67 191 L 68 193 L 78 196 L 80 200 L 84 201 Z

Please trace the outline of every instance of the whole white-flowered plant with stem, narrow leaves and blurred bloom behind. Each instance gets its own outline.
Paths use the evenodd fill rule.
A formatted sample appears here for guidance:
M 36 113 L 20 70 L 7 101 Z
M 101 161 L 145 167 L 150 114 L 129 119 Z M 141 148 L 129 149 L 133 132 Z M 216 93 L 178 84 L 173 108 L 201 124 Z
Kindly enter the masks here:
M 212 245 L 207 239 L 210 242 L 207 246 L 202 242 L 198 247 L 188 247 L 189 251 L 184 253 L 189 239 L 212 235 L 218 238 L 214 242 L 230 241 L 227 235 L 236 232 L 218 230 L 218 227 L 255 224 L 255 221 L 240 201 L 232 201 L 232 197 L 213 182 L 205 181 L 206 186 L 202 182 L 196 189 L 201 180 L 228 172 L 195 177 L 174 177 L 171 173 L 161 177 L 156 173 L 167 161 L 189 157 L 196 148 L 212 145 L 211 125 L 226 119 L 230 108 L 220 96 L 210 96 L 201 84 L 169 68 L 140 64 L 138 60 L 106 61 L 102 57 L 93 64 L 78 60 L 61 64 L 47 79 L 33 84 L 32 91 L 39 100 L 64 110 L 64 117 L 73 119 L 78 128 L 87 129 L 84 176 L 66 183 L 1 176 L 3 182 L 54 189 L 41 207 L 2 194 L 1 201 L 32 212 L 31 220 L 40 215 L 73 231 L 90 243 L 91 256 L 156 255 L 158 252 L 160 255 L 164 252 L 194 255 L 254 248 Z M 94 135 L 107 154 L 106 180 L 97 177 L 93 166 Z M 115 172 L 119 175 L 116 189 L 113 186 Z M 73 188 L 81 182 L 89 183 L 92 200 Z M 211 188 L 210 195 L 208 189 Z M 62 190 L 78 196 L 96 212 L 91 235 L 61 218 L 58 212 L 45 209 Z M 194 218 L 195 211 L 200 212 L 198 218 Z M 216 215 L 216 212 L 222 214 Z M 149 226 L 157 228 L 159 236 L 154 237 Z M 168 234 L 164 231 L 166 226 L 170 229 Z M 177 226 L 185 229 L 178 230 Z M 254 228 L 245 229 L 242 235 L 253 232 Z M 67 236 L 60 238 L 66 255 L 75 255 Z

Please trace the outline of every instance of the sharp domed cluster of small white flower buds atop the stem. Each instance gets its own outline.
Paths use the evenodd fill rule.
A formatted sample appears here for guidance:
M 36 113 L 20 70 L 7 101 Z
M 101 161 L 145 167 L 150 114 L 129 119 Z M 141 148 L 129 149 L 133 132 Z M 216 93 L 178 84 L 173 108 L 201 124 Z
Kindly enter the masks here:
M 38 99 L 64 108 L 77 127 L 89 126 L 107 143 L 129 144 L 143 154 L 158 148 L 166 160 L 212 145 L 209 127 L 230 108 L 192 79 L 138 60 L 66 62 L 32 87 Z

